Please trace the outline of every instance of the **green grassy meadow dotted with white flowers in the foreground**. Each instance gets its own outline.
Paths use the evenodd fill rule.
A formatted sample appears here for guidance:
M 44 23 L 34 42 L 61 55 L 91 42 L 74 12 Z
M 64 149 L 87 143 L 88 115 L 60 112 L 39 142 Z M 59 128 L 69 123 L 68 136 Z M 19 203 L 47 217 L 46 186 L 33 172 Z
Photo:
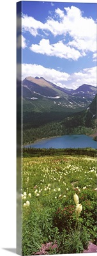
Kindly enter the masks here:
M 47 243 L 49 255 L 96 244 L 96 179 L 96 157 L 23 158 L 22 255 L 41 255 Z

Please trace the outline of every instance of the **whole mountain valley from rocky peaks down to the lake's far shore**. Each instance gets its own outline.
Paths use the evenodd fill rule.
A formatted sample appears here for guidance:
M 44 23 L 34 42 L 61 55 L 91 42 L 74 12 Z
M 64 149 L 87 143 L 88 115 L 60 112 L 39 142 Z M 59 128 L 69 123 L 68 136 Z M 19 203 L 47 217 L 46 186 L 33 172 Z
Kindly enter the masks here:
M 52 84 L 43 77 L 22 81 L 23 144 L 64 134 L 96 137 L 97 88 L 83 84 L 76 90 Z

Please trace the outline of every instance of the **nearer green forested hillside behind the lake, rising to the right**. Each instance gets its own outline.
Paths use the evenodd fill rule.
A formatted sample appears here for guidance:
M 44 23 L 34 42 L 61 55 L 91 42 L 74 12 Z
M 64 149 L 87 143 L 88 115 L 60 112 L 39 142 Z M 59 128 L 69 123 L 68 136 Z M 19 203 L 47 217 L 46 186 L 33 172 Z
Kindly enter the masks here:
M 24 144 L 31 143 L 41 138 L 61 136 L 64 134 L 87 134 L 93 135 L 93 137 L 96 136 L 96 97 L 84 111 L 74 113 L 73 115 L 71 115 L 71 113 L 69 113 L 69 115 L 68 113 L 65 113 L 65 115 L 68 115 L 65 116 L 65 118 L 63 112 L 61 112 L 60 118 L 63 120 L 60 119 L 56 122 L 57 112 L 52 113 L 52 115 L 51 113 L 46 114 L 44 119 L 44 113 L 43 116 L 41 113 L 38 113 L 38 116 L 34 113 L 33 127 L 30 126 L 32 125 L 32 122 L 30 124 L 24 123 Z M 52 119 L 52 122 L 50 122 L 51 117 L 55 117 L 55 119 Z M 36 120 L 38 120 L 37 123 Z M 46 120 L 48 120 L 48 122 Z

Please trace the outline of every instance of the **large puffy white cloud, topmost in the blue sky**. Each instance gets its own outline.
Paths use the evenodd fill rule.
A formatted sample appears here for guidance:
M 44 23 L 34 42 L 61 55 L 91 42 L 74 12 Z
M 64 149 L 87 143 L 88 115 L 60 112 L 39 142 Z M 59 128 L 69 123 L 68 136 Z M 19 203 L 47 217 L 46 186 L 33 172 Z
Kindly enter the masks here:
M 54 36 L 63 35 L 65 38 L 69 35 L 70 41 L 66 46 L 75 47 L 82 55 L 87 54 L 87 51 L 96 51 L 96 22 L 91 17 L 84 17 L 75 6 L 64 8 L 64 11 L 57 8 L 53 17 L 50 15 L 45 23 L 22 15 L 23 31 L 29 31 L 31 35 L 36 36 L 39 29 L 42 33 L 50 32 Z

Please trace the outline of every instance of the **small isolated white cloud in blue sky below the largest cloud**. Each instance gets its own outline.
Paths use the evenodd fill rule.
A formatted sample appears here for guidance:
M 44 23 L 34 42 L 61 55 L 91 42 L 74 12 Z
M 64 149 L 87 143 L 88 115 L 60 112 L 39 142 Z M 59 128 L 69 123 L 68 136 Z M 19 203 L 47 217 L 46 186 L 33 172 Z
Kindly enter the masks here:
M 41 39 L 39 44 L 32 44 L 30 49 L 36 53 L 72 60 L 78 60 L 78 58 L 82 56 L 79 51 L 64 45 L 61 41 L 50 45 L 48 39 Z

